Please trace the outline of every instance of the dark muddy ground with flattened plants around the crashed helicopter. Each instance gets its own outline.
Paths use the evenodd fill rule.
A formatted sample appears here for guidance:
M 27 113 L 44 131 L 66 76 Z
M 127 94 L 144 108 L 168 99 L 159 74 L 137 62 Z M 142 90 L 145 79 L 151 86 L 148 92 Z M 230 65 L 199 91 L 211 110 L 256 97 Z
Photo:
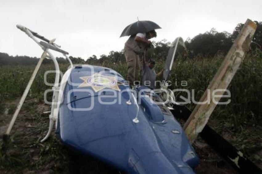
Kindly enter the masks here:
M 0 173 L 123 173 L 68 149 L 54 132 L 47 141 L 40 143 L 49 124 L 49 113 L 43 112 L 49 111 L 50 106 L 36 99 L 26 100 L 12 129 L 10 141 L 5 144 L 2 135 L 18 101 L 6 102 L 0 115 Z M 196 173 L 235 173 L 201 138 L 193 146 L 200 158 L 198 167 L 194 169 Z M 256 164 L 262 167 L 260 160 Z

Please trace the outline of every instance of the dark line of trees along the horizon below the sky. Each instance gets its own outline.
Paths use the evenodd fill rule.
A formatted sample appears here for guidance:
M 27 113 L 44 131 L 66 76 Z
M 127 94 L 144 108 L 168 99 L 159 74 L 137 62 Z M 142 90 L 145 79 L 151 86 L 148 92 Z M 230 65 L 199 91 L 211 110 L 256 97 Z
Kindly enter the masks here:
M 256 32 L 251 43 L 251 49 L 261 49 L 262 47 L 262 22 L 254 21 L 257 25 Z M 193 59 L 195 57 L 213 58 L 216 54 L 225 55 L 231 48 L 240 30 L 244 26 L 239 23 L 233 33 L 230 34 L 226 31 L 218 32 L 214 28 L 203 34 L 198 34 L 194 38 L 188 38 L 185 41 L 186 50 L 178 46 L 178 54 L 184 58 Z M 153 42 L 153 47 L 149 48 L 146 56 L 155 59 L 156 61 L 164 61 L 166 59 L 169 45 L 171 42 L 162 40 L 160 42 Z M 123 45 L 124 47 L 124 45 Z M 100 57 L 92 55 L 85 61 L 81 57 L 69 57 L 74 64 L 91 64 L 91 65 L 104 65 L 110 63 L 123 63 L 125 62 L 124 50 L 110 51 L 108 55 L 102 54 Z M 63 57 L 56 58 L 58 63 L 68 63 Z M 7 53 L 0 53 L 0 65 L 35 65 L 39 58 L 28 56 L 9 56 Z M 52 63 L 51 59 L 44 59 L 43 64 Z

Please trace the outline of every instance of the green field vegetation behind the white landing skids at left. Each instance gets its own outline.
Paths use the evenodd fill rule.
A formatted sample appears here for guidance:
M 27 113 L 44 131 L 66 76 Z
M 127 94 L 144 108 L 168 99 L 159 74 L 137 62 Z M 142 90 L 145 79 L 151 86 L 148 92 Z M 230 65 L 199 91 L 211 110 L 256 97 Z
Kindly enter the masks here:
M 68 66 L 69 64 L 60 64 L 60 71 L 64 73 L 68 69 Z M 9 100 L 18 96 L 22 96 L 34 69 L 34 65 L 1 66 L 0 97 L 2 96 L 3 100 Z M 46 64 L 40 67 L 28 96 L 31 95 L 31 97 L 37 97 L 39 93 L 45 91 L 46 89 L 51 89 L 51 86 L 44 84 L 44 73 L 47 70 L 55 70 L 54 65 Z M 47 82 L 54 83 L 54 79 L 55 73 L 50 73 L 47 75 Z M 42 99 L 43 96 L 41 96 L 41 100 Z

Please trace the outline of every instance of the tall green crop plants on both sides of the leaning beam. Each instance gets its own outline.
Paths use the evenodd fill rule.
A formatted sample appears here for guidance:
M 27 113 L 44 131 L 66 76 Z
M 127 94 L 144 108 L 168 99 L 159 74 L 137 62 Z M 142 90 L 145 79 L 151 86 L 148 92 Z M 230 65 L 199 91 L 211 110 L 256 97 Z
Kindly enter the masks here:
M 186 88 L 195 90 L 195 100 L 199 101 L 209 82 L 214 77 L 223 57 L 214 59 L 178 59 L 173 66 L 170 79 L 173 82 L 171 89 Z M 228 105 L 218 105 L 213 115 L 219 119 L 234 123 L 237 127 L 243 122 L 249 125 L 262 123 L 262 52 L 257 49 L 246 55 L 239 70 L 235 74 L 228 89 L 231 92 L 231 102 Z M 178 81 L 177 85 L 174 83 Z M 181 81 L 187 81 L 187 86 L 182 86 Z M 186 93 L 178 93 L 187 97 Z M 189 107 L 194 108 L 191 103 Z

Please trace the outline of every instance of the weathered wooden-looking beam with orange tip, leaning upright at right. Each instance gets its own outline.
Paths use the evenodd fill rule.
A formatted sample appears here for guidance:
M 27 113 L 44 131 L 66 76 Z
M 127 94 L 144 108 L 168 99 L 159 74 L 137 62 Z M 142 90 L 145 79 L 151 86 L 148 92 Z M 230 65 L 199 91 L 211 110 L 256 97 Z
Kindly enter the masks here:
M 227 89 L 229 83 L 234 77 L 237 69 L 239 68 L 239 65 L 243 61 L 245 54 L 249 49 L 249 45 L 252 41 L 255 31 L 256 24 L 248 19 L 237 36 L 231 49 L 228 51 L 220 68 L 207 87 L 205 93 L 201 97 L 199 102 L 203 102 L 204 104 L 196 105 L 190 117 L 186 121 L 184 130 L 191 143 L 194 142 L 198 134 L 207 124 L 207 121 L 215 109 L 217 102 L 224 93 L 222 90 Z M 217 89 L 221 89 L 221 91 L 217 91 Z M 215 95 L 213 95 L 213 92 L 215 92 Z M 210 102 L 205 102 L 208 101 L 208 99 L 210 99 Z

